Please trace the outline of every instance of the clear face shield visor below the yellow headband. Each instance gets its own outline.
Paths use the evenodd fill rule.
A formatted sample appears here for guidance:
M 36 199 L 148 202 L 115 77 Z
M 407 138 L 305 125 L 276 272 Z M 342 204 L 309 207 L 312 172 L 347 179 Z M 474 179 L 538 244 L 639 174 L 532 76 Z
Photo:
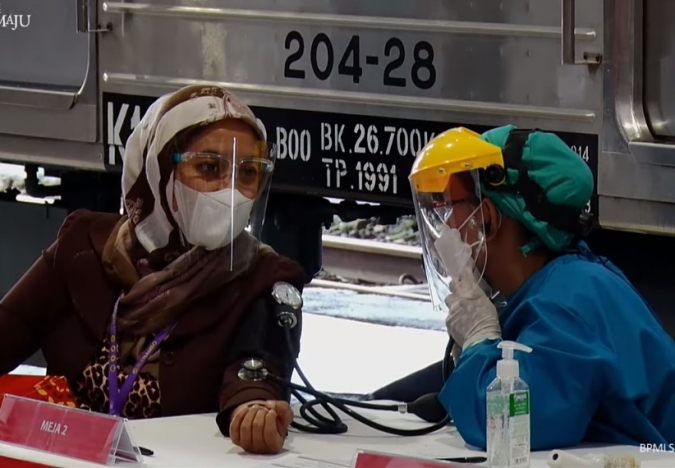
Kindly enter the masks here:
M 447 313 L 450 294 L 487 294 L 483 280 L 487 265 L 483 200 L 477 189 L 478 172 L 453 174 L 443 192 L 420 192 L 413 197 L 424 270 L 435 310 Z

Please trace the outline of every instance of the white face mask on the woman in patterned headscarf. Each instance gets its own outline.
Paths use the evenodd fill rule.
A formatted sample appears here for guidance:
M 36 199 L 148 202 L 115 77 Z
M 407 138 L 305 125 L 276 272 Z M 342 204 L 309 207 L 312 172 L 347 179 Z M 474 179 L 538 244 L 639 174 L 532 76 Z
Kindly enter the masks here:
M 254 200 L 230 188 L 199 192 L 176 181 L 173 211 L 185 239 L 195 246 L 215 250 L 228 245 L 246 228 Z

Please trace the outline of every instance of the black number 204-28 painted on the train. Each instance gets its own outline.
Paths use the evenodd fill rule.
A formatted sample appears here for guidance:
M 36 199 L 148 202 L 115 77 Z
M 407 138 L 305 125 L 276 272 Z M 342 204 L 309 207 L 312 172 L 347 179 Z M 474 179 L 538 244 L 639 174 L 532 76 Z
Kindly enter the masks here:
M 307 73 L 297 65 L 305 54 L 305 38 L 298 31 L 291 31 L 286 35 L 284 47 L 289 51 L 284 64 L 284 77 L 304 80 Z M 325 59 L 319 63 L 319 50 Z M 309 47 L 309 62 L 312 73 L 317 79 L 325 81 L 337 71 L 338 75 L 350 76 L 352 82 L 360 83 L 364 74 L 364 64 L 368 68 L 375 69 L 380 61 L 386 61 L 382 70 L 382 84 L 405 88 L 409 82 L 419 89 L 430 89 L 436 84 L 436 68 L 434 66 L 434 48 L 427 41 L 419 41 L 413 46 L 412 65 L 408 73 L 401 71 L 406 61 L 406 47 L 403 41 L 397 37 L 388 39 L 381 51 L 367 51 L 361 55 L 361 38 L 352 36 L 347 47 L 342 51 L 340 59 L 335 67 L 336 52 L 330 37 L 319 33 L 311 40 Z M 383 57 L 381 57 L 383 55 Z M 379 68 L 378 68 L 379 71 Z

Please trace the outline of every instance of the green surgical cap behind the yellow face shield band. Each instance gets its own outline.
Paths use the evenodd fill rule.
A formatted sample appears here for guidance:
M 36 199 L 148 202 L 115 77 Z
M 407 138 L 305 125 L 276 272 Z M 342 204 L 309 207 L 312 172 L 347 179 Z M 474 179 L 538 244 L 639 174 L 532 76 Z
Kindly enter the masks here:
M 504 148 L 511 130 L 515 128 L 513 125 L 495 128 L 483 133 L 481 138 Z M 523 147 L 522 161 L 528 168 L 530 179 L 542 188 L 550 203 L 579 211 L 586 207 L 593 195 L 591 169 L 557 135 L 540 131 L 531 133 Z M 506 182 L 514 184 L 517 180 L 518 171 L 507 169 Z M 491 191 L 484 184 L 481 185 L 481 190 L 499 211 L 520 222 L 536 235 L 534 244 L 523 246 L 523 254 L 527 255 L 541 243 L 553 252 L 561 252 L 570 247 L 574 234 L 563 232 L 536 219 L 527 210 L 525 200 L 519 194 Z

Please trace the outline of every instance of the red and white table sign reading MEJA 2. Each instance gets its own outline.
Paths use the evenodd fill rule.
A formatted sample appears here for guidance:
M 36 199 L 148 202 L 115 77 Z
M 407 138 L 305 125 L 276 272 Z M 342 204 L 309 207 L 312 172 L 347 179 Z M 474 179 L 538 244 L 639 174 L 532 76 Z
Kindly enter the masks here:
M 14 395 L 0 406 L 0 442 L 102 465 L 143 464 L 124 419 Z

